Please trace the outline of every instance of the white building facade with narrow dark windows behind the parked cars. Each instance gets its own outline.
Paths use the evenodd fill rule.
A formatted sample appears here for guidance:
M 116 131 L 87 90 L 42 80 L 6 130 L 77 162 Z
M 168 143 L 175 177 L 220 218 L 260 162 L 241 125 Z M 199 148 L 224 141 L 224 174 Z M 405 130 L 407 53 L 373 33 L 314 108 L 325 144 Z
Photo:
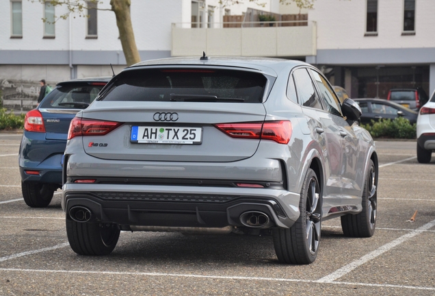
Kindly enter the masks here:
M 81 2 L 92 8 L 89 1 Z M 102 2 L 98 10 L 89 10 L 90 18 L 70 14 L 50 24 L 42 18 L 65 14 L 65 7 L 1 1 L 1 84 L 28 82 L 30 88 L 40 79 L 55 84 L 111 75 L 109 64 L 116 73 L 123 69 L 116 18 L 100 10 L 110 8 L 109 0 Z M 264 7 L 248 0 L 219 2 L 132 0 L 142 60 L 200 56 L 202 51 L 296 58 L 317 65 L 351 97 L 386 98 L 388 89 L 396 87 L 435 89 L 434 0 L 317 0 L 312 10 L 302 12 L 279 0 L 257 1 Z M 295 16 L 300 13 L 308 19 Z M 259 14 L 273 18 L 259 23 Z

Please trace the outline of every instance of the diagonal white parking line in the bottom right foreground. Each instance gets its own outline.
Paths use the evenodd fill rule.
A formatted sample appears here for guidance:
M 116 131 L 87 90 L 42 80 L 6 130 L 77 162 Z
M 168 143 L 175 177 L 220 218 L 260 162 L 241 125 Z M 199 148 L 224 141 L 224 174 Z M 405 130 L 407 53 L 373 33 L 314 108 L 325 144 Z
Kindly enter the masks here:
M 387 243 L 386 245 L 383 245 L 382 247 L 379 247 L 378 249 L 371 251 L 369 254 L 359 258 L 358 260 L 355 260 L 354 262 L 350 262 L 349 264 L 341 267 L 341 269 L 337 269 L 337 271 L 334 271 L 333 273 L 330 273 L 329 275 L 322 277 L 321 279 L 317 280 L 317 282 L 333 282 L 334 280 L 343 277 L 343 275 L 347 275 L 347 273 L 350 273 L 357 267 L 360 267 L 361 265 L 369 262 L 370 260 L 384 254 L 386 251 L 393 249 L 393 247 L 396 247 L 397 245 L 406 242 L 406 240 L 410 240 L 414 236 L 417 236 L 417 234 L 421 234 L 425 230 L 429 230 L 431 227 L 434 226 L 435 226 L 435 220 L 426 223 L 425 225 L 417 228 L 416 230 L 412 230 L 412 232 L 400 236 L 399 238 L 396 238 L 391 243 Z

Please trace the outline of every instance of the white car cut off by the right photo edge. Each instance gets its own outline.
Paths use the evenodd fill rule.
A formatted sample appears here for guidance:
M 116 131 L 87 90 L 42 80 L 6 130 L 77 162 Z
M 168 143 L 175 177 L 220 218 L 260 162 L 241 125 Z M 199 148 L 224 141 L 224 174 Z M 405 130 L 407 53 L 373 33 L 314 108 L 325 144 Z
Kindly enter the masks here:
M 428 163 L 435 151 L 435 91 L 417 119 L 417 160 Z

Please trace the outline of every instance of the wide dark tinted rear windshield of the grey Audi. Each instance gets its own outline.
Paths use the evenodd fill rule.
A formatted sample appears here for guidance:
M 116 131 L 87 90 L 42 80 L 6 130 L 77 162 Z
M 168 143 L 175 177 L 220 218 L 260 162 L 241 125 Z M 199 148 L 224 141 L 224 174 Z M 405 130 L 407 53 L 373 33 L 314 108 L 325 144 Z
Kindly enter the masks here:
M 141 69 L 118 75 L 101 100 L 261 103 L 266 82 L 249 71 Z

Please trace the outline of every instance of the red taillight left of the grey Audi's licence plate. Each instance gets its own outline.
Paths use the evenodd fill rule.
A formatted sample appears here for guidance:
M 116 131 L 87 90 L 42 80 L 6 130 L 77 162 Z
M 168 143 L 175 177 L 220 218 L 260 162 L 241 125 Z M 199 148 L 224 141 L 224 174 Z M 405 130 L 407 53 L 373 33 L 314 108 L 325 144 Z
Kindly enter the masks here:
M 68 140 L 75 136 L 103 136 L 122 125 L 115 121 L 98 121 L 74 117 L 68 130 Z

